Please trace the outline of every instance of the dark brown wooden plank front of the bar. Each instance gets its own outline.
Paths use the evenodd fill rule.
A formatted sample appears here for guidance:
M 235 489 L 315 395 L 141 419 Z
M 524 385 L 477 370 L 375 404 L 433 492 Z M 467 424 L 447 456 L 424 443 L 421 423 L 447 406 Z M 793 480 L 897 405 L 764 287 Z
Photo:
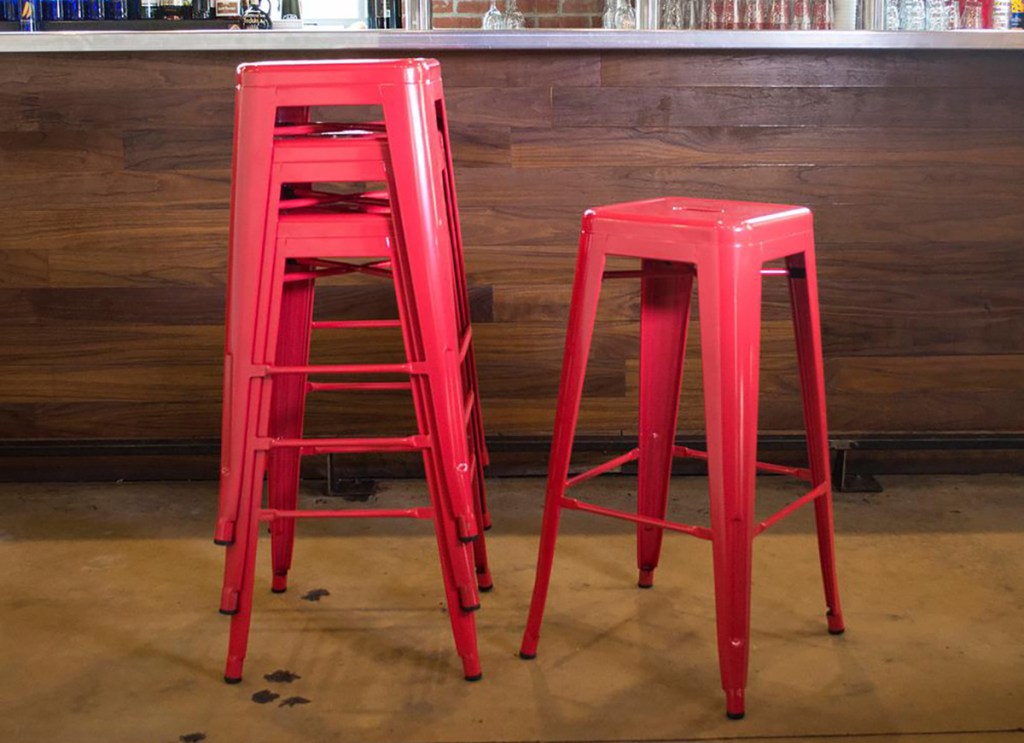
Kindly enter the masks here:
M 582 211 L 670 193 L 814 209 L 835 432 L 1024 430 L 1024 55 L 438 56 L 492 435 L 550 434 Z M 0 438 L 219 435 L 232 71 L 254 57 L 3 58 Z M 602 300 L 581 433 L 636 428 L 635 289 Z M 365 283 L 324 300 L 389 306 Z M 783 288 L 766 301 L 762 428 L 797 430 Z M 316 356 L 368 348 L 395 349 Z M 399 431 L 407 402 L 332 397 L 310 427 Z

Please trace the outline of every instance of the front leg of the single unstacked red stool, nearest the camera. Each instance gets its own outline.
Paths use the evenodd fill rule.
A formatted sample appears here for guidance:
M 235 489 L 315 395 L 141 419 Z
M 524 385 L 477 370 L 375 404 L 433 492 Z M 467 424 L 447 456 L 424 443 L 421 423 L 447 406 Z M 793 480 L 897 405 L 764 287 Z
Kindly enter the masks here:
M 718 654 L 726 712 L 738 719 L 750 657 L 760 265 L 729 254 L 698 275 Z

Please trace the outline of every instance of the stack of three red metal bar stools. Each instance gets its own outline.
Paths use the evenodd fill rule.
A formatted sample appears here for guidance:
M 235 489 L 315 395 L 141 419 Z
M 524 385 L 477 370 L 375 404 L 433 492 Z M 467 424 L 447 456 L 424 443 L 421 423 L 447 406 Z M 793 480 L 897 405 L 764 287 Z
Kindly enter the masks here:
M 259 523 L 269 522 L 280 593 L 296 519 L 371 517 L 433 521 L 456 647 L 466 679 L 479 679 L 473 612 L 478 592 L 492 587 L 482 533 L 487 451 L 435 60 L 239 68 L 228 274 L 215 535 L 227 548 L 225 681 L 242 679 Z M 313 320 L 316 280 L 347 274 L 390 281 L 398 318 Z M 312 330 L 367 327 L 400 331 L 404 360 L 310 364 Z M 418 430 L 305 435 L 307 394 L 340 390 L 411 393 Z M 381 451 L 422 452 L 429 506 L 298 509 L 302 456 Z

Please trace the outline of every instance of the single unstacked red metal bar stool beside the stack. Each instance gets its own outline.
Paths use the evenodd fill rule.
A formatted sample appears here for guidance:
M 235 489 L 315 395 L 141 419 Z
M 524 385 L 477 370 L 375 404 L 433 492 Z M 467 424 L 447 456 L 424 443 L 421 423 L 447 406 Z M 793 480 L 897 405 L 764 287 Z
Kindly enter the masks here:
M 605 271 L 609 255 L 641 260 L 639 271 Z M 765 268 L 784 259 L 784 269 Z M 809 468 L 757 462 L 758 364 L 763 275 L 788 277 Z M 587 357 L 602 278 L 640 277 L 640 428 L 637 448 L 568 477 Z M 693 278 L 700 285 L 707 453 L 675 445 Z M 729 717 L 743 716 L 750 655 L 754 537 L 814 504 L 828 631 L 843 631 L 833 539 L 824 377 L 811 213 L 801 207 L 702 199 L 657 199 L 589 210 L 583 219 L 565 358 L 548 472 L 537 580 L 520 656 L 536 657 L 562 509 L 637 524 L 639 585 L 653 584 L 664 530 L 712 542 L 722 688 Z M 666 520 L 674 456 L 707 458 L 711 528 Z M 638 513 L 565 496 L 567 487 L 637 461 Z M 811 490 L 755 522 L 757 471 L 808 480 Z

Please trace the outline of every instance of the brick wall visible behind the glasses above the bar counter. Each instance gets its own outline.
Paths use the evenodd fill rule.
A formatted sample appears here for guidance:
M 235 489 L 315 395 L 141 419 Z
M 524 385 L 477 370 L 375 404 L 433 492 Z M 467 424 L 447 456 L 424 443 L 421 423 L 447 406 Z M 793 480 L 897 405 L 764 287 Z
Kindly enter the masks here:
M 508 0 L 497 0 L 504 10 Z M 433 0 L 435 29 L 479 29 L 490 0 Z M 527 29 L 599 29 L 604 0 L 517 0 Z

